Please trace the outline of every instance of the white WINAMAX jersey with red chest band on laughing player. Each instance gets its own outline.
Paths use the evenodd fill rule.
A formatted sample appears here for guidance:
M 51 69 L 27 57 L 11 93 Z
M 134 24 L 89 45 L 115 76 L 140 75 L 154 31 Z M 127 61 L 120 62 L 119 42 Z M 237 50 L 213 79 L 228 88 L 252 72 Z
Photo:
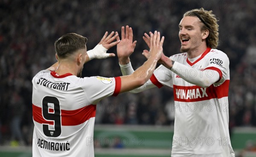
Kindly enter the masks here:
M 172 157 L 234 157 L 228 129 L 230 71 L 227 55 L 207 48 L 193 63 L 186 53 L 170 58 L 198 71 L 212 69 L 220 75 L 220 80 L 203 88 L 186 82 L 162 65 L 154 71 L 150 79 L 154 85 L 173 87 L 175 126 Z M 183 74 L 193 77 L 195 73 L 182 71 Z

